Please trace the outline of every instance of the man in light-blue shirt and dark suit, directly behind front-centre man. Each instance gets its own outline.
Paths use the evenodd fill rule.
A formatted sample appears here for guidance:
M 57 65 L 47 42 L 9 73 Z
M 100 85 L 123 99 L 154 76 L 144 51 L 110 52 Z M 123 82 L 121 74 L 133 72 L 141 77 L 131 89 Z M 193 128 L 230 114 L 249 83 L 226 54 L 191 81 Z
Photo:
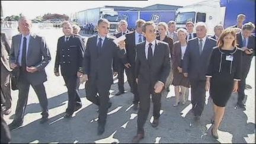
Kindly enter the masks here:
M 137 92 L 137 83 L 135 78 L 135 45 L 145 41 L 145 37 L 142 34 L 142 25 L 146 23 L 144 20 L 139 19 L 136 21 L 136 29 L 131 33 L 126 34 L 126 55 L 123 58 L 125 66 L 127 81 L 130 85 L 131 92 L 133 92 L 133 110 L 137 110 L 139 105 L 139 95 Z

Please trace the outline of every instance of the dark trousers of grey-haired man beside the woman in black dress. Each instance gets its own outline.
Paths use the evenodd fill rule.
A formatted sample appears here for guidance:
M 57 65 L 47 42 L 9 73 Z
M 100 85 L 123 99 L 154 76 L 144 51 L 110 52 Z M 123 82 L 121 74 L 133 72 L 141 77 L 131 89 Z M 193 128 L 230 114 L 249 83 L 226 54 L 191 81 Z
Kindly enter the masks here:
M 201 116 L 206 100 L 206 80 L 190 79 L 191 85 L 191 103 L 194 110 L 194 116 Z

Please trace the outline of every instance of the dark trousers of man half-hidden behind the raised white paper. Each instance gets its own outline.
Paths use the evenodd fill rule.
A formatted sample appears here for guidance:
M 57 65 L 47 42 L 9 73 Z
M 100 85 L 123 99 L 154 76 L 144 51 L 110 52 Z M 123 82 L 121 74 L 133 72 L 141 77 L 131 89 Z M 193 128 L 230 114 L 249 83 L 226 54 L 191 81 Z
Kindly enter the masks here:
M 119 91 L 120 92 L 124 92 L 124 65 L 123 63 L 121 62 L 121 59 L 117 59 L 118 60 L 118 65 L 117 65 L 117 78 L 119 79 L 119 82 L 118 82 L 118 86 L 119 86 Z

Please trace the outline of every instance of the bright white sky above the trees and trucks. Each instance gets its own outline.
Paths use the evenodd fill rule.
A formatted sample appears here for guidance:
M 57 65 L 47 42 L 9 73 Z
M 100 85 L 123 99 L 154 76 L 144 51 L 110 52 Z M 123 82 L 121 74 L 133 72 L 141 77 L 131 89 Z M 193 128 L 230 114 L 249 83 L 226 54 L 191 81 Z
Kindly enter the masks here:
M 4 17 L 22 13 L 35 18 L 46 13 L 71 15 L 72 12 L 88 8 L 115 5 L 125 7 L 147 7 L 153 4 L 190 5 L 203 0 L 148 0 L 148 1 L 1 1 Z

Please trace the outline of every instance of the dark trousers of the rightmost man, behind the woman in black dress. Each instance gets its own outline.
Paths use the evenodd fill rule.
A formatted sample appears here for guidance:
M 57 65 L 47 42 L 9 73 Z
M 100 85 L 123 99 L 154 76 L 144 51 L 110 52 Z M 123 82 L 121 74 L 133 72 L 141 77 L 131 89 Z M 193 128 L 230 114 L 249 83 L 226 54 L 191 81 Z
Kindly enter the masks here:
M 245 63 L 242 65 L 242 78 L 238 82 L 238 103 L 242 104 L 245 98 L 245 81 L 251 67 L 251 62 Z

